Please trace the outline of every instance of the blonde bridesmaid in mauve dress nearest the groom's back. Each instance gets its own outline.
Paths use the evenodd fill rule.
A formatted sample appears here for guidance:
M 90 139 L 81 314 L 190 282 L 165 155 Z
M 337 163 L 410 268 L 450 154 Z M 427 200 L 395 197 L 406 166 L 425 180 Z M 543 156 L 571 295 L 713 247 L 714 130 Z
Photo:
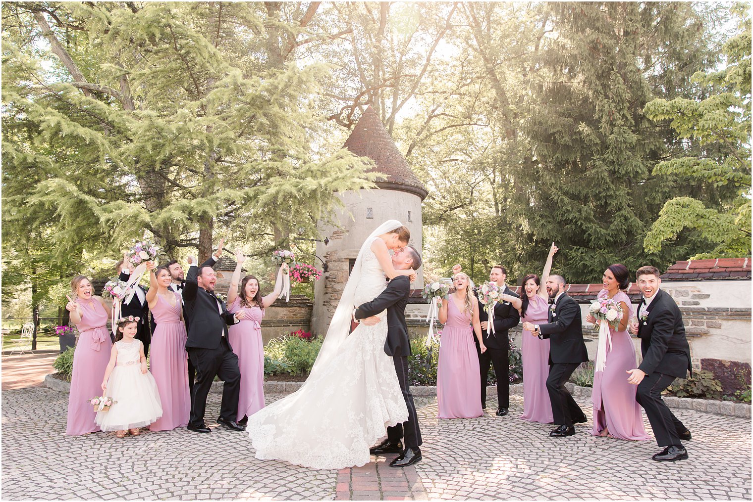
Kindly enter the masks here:
M 439 310 L 439 322 L 444 324 L 437 365 L 437 416 L 441 419 L 483 416 L 473 333 L 481 352 L 486 352 L 486 346 L 481 337 L 478 302 L 468 288 L 470 283 L 466 274 L 456 274 L 453 277 L 456 292 L 447 295 Z

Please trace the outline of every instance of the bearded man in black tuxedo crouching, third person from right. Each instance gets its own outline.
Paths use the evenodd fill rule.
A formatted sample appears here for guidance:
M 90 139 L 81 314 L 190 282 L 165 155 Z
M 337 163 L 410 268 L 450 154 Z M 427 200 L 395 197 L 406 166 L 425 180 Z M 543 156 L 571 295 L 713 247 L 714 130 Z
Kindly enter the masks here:
M 549 435 L 566 437 L 575 434 L 574 423 L 581 424 L 587 420 L 565 383 L 581 362 L 588 361 L 588 352 L 583 341 L 581 307 L 565 294 L 564 277 L 550 275 L 546 286 L 550 300 L 554 300 L 549 308 L 549 322 L 541 325 L 523 322 L 523 329 L 531 331 L 541 340 L 549 338 L 547 391 L 552 403 L 554 424 L 559 425 Z

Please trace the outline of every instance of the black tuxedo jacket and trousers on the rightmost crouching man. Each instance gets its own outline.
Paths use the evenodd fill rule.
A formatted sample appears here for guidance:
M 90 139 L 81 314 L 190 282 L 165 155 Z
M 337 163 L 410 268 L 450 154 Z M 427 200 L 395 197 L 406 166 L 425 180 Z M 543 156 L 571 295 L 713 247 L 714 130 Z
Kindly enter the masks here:
M 641 302 L 641 307 L 644 305 Z M 680 309 L 661 289 L 648 304 L 648 316 L 638 317 L 638 337 L 641 339 L 643 361 L 638 367 L 646 373 L 636 391 L 636 401 L 646 411 L 659 446 L 682 446 L 680 434 L 687 428 L 669 411 L 661 393 L 672 385 L 675 377 L 684 378 L 691 367 L 691 349 L 685 337 Z

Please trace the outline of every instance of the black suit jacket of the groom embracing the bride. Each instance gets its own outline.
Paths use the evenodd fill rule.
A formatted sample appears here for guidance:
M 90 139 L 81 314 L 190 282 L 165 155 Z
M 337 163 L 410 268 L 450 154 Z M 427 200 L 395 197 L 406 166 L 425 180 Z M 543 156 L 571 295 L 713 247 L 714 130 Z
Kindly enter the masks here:
M 410 279 L 399 275 L 389 281 L 387 288 L 372 301 L 367 301 L 355 310 L 355 319 L 376 316 L 387 310 L 387 340 L 384 352 L 387 355 L 410 355 L 408 326 L 405 324 L 405 307 L 410 296 Z

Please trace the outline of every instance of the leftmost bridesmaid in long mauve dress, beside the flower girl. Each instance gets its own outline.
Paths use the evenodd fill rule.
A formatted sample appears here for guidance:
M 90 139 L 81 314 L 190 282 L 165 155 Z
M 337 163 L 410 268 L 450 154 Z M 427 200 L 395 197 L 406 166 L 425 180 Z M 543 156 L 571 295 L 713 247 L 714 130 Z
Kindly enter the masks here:
M 71 281 L 73 299 L 69 296 L 66 310 L 80 333 L 73 354 L 73 374 L 71 392 L 68 397 L 68 424 L 66 434 L 81 436 L 100 431 L 96 425 L 94 411 L 89 400 L 102 395 L 102 376 L 110 361 L 112 341 L 107 329 L 110 306 L 93 295 L 92 285 L 82 275 Z

